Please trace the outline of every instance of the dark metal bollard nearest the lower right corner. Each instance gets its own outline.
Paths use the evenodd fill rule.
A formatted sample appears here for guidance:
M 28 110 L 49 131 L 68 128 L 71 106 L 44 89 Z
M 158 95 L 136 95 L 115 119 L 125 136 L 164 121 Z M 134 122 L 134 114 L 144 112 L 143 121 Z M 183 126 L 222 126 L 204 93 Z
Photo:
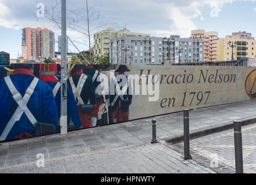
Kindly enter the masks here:
M 242 121 L 234 121 L 236 173 L 243 173 Z

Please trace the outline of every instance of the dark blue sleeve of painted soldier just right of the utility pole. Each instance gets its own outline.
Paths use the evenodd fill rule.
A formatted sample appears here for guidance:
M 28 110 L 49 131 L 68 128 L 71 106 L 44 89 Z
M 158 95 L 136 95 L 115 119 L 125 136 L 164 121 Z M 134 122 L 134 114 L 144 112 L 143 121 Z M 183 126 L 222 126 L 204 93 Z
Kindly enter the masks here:
M 82 123 L 78 114 L 75 98 L 70 87 L 67 87 L 68 91 L 68 113 L 76 128 L 82 128 Z

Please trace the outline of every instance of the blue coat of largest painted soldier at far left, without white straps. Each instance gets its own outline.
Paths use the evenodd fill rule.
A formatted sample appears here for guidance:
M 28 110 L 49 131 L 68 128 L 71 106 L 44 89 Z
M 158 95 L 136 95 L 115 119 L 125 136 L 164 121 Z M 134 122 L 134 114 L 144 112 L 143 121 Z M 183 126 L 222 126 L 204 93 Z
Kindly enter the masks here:
M 16 71 L 10 75 L 10 79 L 17 88 L 17 91 L 19 91 L 23 97 L 25 91 L 34 79 L 34 76 L 27 69 L 16 69 Z M 0 97 L 1 135 L 18 106 L 16 101 L 14 101 L 4 79 L 0 80 Z M 41 80 L 38 81 L 38 84 L 31 95 L 30 101 L 27 103 L 27 107 L 38 122 L 53 124 L 55 125 L 57 131 L 57 105 L 54 101 L 52 89 L 48 84 L 42 82 Z M 35 135 L 35 127 L 30 123 L 30 120 L 28 120 L 25 113 L 23 113 L 20 120 L 16 121 L 16 123 L 13 125 L 6 140 L 14 139 L 24 132 L 27 132 L 32 136 Z

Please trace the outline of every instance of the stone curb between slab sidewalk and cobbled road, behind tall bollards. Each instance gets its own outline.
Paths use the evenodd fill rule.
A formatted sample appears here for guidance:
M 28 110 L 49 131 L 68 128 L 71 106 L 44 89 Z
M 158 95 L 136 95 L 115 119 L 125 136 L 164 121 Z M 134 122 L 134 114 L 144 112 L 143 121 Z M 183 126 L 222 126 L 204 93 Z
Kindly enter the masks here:
M 256 116 L 240 119 L 239 121 L 242 121 L 242 126 L 254 124 L 254 123 L 256 123 Z M 196 131 L 191 132 L 189 137 L 190 137 L 190 139 L 196 139 L 196 138 L 200 138 L 202 136 L 226 131 L 228 129 L 233 129 L 233 121 L 228 121 L 226 123 L 198 129 Z M 175 144 L 175 143 L 179 143 L 179 142 L 183 141 L 184 135 L 178 135 L 178 136 L 175 136 L 174 138 L 166 138 L 166 139 L 161 139 L 161 140 L 165 140 L 167 143 Z

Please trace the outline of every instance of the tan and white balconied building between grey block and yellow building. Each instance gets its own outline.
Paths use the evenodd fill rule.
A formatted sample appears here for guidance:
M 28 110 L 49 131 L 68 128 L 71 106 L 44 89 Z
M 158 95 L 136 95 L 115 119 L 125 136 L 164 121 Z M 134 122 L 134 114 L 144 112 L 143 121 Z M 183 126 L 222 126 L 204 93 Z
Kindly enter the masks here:
M 218 32 L 205 32 L 203 29 L 196 29 L 191 31 L 191 38 L 204 39 L 204 62 L 217 61 Z

